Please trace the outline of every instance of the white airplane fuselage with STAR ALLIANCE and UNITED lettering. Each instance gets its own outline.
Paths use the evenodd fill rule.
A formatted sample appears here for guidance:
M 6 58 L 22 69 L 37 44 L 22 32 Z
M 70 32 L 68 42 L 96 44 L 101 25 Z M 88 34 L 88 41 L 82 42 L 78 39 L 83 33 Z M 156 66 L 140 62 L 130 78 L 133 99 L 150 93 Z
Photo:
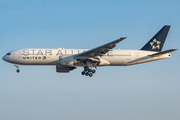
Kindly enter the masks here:
M 13 51 L 10 55 L 4 56 L 7 62 L 19 65 L 59 65 L 62 56 L 74 56 L 87 51 L 88 49 L 22 49 Z M 170 53 L 156 57 L 148 55 L 157 52 L 144 50 L 112 50 L 103 56 L 98 57 L 101 61 L 99 66 L 127 66 L 170 57 Z M 138 62 L 130 62 L 136 59 L 142 59 Z M 66 62 L 66 61 L 64 61 Z M 63 65 L 63 63 L 61 64 Z M 74 63 L 65 64 L 65 66 L 82 67 L 85 64 Z

